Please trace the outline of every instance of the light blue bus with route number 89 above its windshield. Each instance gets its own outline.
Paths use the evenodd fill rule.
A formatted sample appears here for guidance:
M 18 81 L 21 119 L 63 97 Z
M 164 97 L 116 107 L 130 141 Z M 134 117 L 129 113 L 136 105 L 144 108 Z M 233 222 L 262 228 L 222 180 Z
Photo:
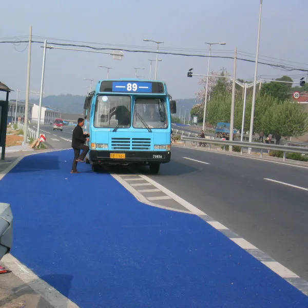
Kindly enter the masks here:
M 84 104 L 84 130 L 90 134 L 87 163 L 139 163 L 157 174 L 171 158 L 171 113 L 176 113 L 164 82 L 100 80 Z

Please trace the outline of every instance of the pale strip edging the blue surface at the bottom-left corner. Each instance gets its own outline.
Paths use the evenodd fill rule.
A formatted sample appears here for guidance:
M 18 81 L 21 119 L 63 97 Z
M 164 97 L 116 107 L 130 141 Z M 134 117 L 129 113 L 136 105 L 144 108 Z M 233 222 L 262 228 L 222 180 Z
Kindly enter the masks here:
M 18 261 L 11 254 L 5 255 L 1 262 L 10 268 L 12 273 L 28 284 L 36 293 L 41 295 L 51 306 L 59 308 L 79 308 L 74 302 L 55 290 L 50 284 L 36 276 L 31 269 Z

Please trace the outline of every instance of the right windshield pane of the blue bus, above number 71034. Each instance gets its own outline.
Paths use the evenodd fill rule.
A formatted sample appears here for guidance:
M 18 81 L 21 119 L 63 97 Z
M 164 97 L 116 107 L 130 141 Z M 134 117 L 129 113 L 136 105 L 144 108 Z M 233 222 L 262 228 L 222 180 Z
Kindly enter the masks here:
M 166 102 L 163 99 L 136 99 L 132 125 L 134 128 L 167 128 Z

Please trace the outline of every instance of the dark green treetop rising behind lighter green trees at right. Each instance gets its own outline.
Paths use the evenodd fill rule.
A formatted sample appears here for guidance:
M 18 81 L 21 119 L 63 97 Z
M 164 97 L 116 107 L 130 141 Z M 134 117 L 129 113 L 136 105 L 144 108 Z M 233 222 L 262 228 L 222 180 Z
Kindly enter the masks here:
M 293 82 L 293 80 L 289 76 L 282 76 L 281 78 L 277 78 L 277 81 L 286 81 Z M 280 83 L 271 81 L 269 83 L 263 84 L 260 94 L 261 95 L 271 95 L 272 97 L 278 98 L 283 101 L 290 97 L 288 94 L 291 91 L 292 84 L 291 83 Z

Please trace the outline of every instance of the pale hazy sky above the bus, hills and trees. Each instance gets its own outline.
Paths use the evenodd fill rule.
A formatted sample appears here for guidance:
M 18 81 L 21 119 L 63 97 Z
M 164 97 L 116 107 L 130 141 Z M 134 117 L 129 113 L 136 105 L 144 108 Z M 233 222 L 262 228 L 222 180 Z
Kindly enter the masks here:
M 148 38 L 163 41 L 162 51 L 192 53 L 194 49 L 204 55 L 208 54 L 205 42 L 225 42 L 225 46 L 213 46 L 213 55 L 233 56 L 237 47 L 239 57 L 254 60 L 259 8 L 260 0 L 3 1 L 0 41 L 8 37 L 27 40 L 32 25 L 34 41 L 46 38 L 48 42 L 69 43 L 66 41 L 72 40 L 96 47 L 122 45 L 127 49 L 156 51 L 156 44 L 143 42 L 143 38 Z M 259 60 L 308 68 L 307 14 L 307 0 L 263 0 Z M 41 85 L 41 46 L 32 44 L 30 89 L 36 91 Z M 0 44 L 0 54 L 0 81 L 14 90 L 25 91 L 27 44 Z M 45 95 L 85 95 L 90 82 L 84 78 L 94 82 L 106 78 L 107 70 L 99 65 L 112 67 L 109 78 L 134 78 L 134 67 L 144 67 L 138 73 L 147 79 L 148 59 L 156 59 L 156 53 L 124 52 L 124 59 L 117 61 L 107 54 L 47 50 L 44 92 Z M 194 73 L 206 74 L 207 58 L 162 54 L 159 59 L 162 61 L 158 62 L 157 79 L 167 83 L 172 97 L 195 98 L 195 92 L 201 87 L 199 78 L 187 78 L 187 70 L 194 68 Z M 233 74 L 232 59 L 210 60 L 211 70 L 219 71 L 222 67 Z M 237 78 L 253 79 L 254 69 L 254 63 L 238 61 Z M 152 62 L 152 78 L 154 74 L 155 62 Z M 258 67 L 258 75 L 268 78 L 283 74 L 294 76 L 296 82 L 306 75 L 265 65 Z M 19 95 L 21 99 L 25 97 L 25 93 Z M 12 92 L 10 98 L 15 97 L 16 93 Z

